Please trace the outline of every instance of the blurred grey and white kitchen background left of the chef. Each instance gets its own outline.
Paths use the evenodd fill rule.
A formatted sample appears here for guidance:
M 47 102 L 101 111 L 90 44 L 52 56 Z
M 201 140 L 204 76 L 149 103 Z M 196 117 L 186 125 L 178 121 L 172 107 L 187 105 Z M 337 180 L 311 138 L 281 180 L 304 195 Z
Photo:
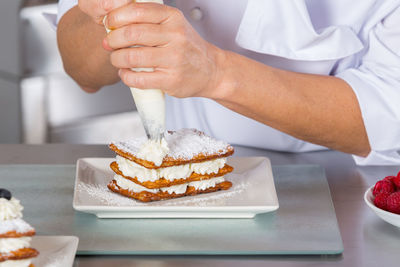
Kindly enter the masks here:
M 56 13 L 56 0 L 0 1 L 0 143 L 103 144 L 143 136 L 125 85 L 88 94 L 64 72 L 49 22 Z

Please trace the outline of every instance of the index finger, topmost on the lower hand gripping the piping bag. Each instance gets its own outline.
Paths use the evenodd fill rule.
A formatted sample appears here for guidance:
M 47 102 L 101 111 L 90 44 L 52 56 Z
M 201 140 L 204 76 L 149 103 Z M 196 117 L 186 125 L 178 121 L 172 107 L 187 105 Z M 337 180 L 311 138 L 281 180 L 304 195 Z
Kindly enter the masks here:
M 106 26 L 119 28 L 132 23 L 160 24 L 177 13 L 175 8 L 156 3 L 133 3 L 111 11 L 107 15 Z

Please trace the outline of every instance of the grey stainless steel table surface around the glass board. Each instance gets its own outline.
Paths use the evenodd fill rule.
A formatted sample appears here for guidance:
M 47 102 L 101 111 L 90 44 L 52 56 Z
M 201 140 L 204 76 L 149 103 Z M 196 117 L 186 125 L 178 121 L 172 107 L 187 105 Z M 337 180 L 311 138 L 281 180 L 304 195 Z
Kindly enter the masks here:
M 356 166 L 334 151 L 279 153 L 236 147 L 236 156 L 266 156 L 272 164 L 318 164 L 326 169 L 344 243 L 340 256 L 79 256 L 75 266 L 398 266 L 400 229 L 379 219 L 363 201 L 377 179 L 400 166 Z M 81 157 L 113 157 L 100 145 L 0 145 L 0 164 L 71 164 Z

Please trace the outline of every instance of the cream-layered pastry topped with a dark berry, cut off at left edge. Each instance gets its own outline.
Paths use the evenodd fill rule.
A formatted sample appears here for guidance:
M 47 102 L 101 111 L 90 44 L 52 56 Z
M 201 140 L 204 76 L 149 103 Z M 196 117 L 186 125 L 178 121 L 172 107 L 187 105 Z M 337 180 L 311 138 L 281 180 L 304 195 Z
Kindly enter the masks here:
M 0 188 L 0 267 L 33 267 L 39 255 L 30 247 L 35 229 L 22 219 L 22 210 L 19 200 Z

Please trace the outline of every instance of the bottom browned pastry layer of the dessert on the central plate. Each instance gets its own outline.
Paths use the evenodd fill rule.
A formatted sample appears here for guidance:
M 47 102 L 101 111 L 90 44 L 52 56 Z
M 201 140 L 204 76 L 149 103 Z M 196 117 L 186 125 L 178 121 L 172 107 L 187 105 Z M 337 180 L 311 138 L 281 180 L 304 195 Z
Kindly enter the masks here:
M 142 191 L 139 193 L 135 193 L 135 192 L 129 191 L 127 189 L 121 188 L 120 186 L 118 186 L 118 184 L 115 180 L 112 180 L 108 184 L 108 188 L 111 191 L 119 193 L 126 197 L 134 198 L 134 199 L 142 201 L 142 202 L 150 202 L 150 201 L 157 201 L 157 200 L 163 200 L 163 199 L 172 199 L 172 198 L 178 198 L 178 197 L 183 197 L 183 196 L 193 196 L 193 195 L 203 194 L 203 193 L 211 193 L 211 192 L 215 192 L 218 190 L 227 190 L 231 186 L 232 186 L 232 183 L 229 181 L 224 181 L 222 183 L 216 184 L 214 187 L 210 187 L 210 188 L 207 188 L 204 190 L 200 190 L 200 189 L 196 190 L 193 186 L 188 186 L 185 193 L 175 194 L 175 193 L 168 193 L 168 191 L 165 191 L 165 192 L 159 191 L 157 193 Z

